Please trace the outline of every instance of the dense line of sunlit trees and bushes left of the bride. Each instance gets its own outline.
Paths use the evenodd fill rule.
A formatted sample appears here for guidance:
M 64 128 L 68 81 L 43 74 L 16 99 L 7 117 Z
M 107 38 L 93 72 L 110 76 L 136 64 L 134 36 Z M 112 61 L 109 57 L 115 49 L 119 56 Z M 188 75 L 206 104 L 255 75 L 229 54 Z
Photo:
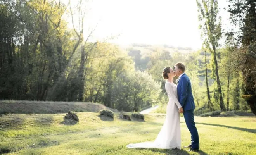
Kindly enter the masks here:
M 127 53 L 89 41 L 84 6 L 0 1 L 0 99 L 96 102 L 125 111 L 157 103 L 160 84 L 135 70 Z

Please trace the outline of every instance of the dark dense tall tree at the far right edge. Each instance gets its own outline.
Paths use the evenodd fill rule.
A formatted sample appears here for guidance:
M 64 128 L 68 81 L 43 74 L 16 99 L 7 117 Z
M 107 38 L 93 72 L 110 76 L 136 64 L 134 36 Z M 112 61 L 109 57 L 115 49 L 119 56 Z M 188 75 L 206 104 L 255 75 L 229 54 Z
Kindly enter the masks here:
M 237 52 L 236 60 L 243 76 L 243 98 L 256 115 L 256 1 L 229 0 L 229 2 L 232 4 L 228 9 L 232 22 L 241 30 L 237 34 L 241 47 Z

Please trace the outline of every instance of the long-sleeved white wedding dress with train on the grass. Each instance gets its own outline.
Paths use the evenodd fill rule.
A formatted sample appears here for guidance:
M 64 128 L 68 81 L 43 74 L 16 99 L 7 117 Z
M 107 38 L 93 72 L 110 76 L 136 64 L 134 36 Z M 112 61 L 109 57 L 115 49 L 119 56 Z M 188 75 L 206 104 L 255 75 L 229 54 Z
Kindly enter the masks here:
M 166 119 L 156 140 L 152 142 L 129 144 L 126 146 L 127 148 L 181 149 L 180 113 L 178 109 L 182 106 L 177 99 L 177 86 L 174 83 L 166 82 L 165 90 L 169 97 Z

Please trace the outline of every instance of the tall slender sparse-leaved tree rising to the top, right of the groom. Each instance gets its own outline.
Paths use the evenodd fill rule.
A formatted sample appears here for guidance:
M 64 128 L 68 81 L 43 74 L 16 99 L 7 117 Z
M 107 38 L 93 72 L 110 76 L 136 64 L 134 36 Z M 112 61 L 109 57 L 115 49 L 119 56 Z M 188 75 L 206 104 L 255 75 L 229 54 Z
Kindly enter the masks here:
M 216 75 L 219 106 L 221 110 L 225 110 L 216 53 L 216 49 L 219 46 L 219 40 L 221 38 L 221 17 L 217 17 L 218 0 L 197 0 L 197 6 L 199 12 L 199 21 L 201 21 L 199 28 L 202 29 L 204 45 L 211 52 L 213 57 L 214 66 L 212 67 L 212 71 L 214 71 Z

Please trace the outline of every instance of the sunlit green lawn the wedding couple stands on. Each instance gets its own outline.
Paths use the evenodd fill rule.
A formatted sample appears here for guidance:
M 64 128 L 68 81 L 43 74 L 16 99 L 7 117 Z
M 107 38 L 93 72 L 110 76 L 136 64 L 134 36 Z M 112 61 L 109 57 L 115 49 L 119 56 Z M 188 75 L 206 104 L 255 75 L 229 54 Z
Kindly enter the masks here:
M 99 113 L 78 112 L 78 123 L 65 114 L 4 114 L 0 117 L 0 150 L 21 155 L 252 155 L 256 152 L 256 117 L 195 117 L 201 151 L 128 149 L 129 143 L 152 141 L 165 115 L 125 121 Z M 181 117 L 182 146 L 190 133 Z M 9 152 L 9 153 L 8 153 Z

